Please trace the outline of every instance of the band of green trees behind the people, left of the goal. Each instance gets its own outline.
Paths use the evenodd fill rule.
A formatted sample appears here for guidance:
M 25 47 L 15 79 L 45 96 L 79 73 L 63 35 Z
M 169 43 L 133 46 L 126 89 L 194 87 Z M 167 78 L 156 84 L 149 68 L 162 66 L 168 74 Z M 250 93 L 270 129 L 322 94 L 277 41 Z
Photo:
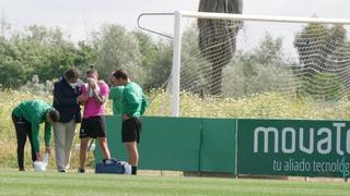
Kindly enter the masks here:
M 10 38 L 0 37 L 0 84 L 18 88 L 37 75 L 43 83 L 62 75 L 68 68 L 82 71 L 95 64 L 101 78 L 120 68 L 129 70 L 132 81 L 145 89 L 159 88 L 167 81 L 172 65 L 170 41 L 119 25 L 104 25 L 93 33 L 91 42 L 74 44 L 59 28 L 33 25 Z

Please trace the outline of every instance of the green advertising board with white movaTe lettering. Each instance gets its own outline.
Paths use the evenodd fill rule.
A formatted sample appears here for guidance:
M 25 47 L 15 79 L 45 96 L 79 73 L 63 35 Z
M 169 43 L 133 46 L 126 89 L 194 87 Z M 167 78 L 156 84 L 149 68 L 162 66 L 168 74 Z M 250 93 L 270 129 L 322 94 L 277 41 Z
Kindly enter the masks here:
M 338 176 L 350 172 L 350 122 L 238 120 L 237 173 Z

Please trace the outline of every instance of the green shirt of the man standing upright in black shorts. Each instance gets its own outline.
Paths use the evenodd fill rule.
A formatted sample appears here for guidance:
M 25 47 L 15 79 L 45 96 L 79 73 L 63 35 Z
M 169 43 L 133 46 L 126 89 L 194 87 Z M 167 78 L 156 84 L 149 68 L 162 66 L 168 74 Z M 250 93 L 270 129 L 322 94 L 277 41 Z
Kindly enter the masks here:
M 133 82 L 128 83 L 124 88 L 122 114 L 141 117 L 142 99 L 144 99 L 142 88 Z

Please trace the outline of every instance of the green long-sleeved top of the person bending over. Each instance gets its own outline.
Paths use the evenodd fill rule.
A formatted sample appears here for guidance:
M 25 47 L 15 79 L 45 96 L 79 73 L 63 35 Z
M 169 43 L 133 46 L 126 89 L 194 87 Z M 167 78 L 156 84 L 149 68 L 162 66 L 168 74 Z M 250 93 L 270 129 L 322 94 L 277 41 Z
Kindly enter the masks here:
M 23 101 L 13 109 L 15 117 L 24 118 L 32 123 L 32 138 L 35 152 L 39 151 L 39 124 L 45 122 L 45 145 L 50 144 L 51 125 L 46 122 L 46 113 L 54 109 L 49 103 L 42 100 Z

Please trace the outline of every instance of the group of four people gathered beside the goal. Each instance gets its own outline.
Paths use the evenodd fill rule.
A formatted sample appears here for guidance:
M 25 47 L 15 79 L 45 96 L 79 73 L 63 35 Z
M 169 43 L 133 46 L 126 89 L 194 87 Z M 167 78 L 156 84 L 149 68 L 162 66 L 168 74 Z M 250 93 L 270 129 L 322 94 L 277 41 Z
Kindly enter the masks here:
M 67 172 L 77 124 L 81 123 L 79 137 L 79 173 L 85 172 L 88 146 L 97 138 L 105 162 L 110 161 L 105 123 L 105 105 L 113 100 L 113 113 L 121 115 L 121 142 L 125 144 L 131 164 L 131 174 L 137 174 L 139 160 L 137 144 L 140 140 L 141 119 L 148 102 L 142 88 L 131 82 L 126 70 L 117 70 L 110 76 L 109 86 L 98 79 L 93 66 L 86 71 L 86 83 L 80 81 L 77 69 L 69 69 L 54 85 L 54 103 L 26 100 L 13 109 L 12 119 L 18 138 L 19 170 L 24 171 L 24 145 L 28 137 L 32 160 L 43 161 L 39 151 L 39 124 L 45 122 L 45 152 L 50 154 L 50 125 L 54 130 L 56 164 L 59 172 Z M 83 114 L 81 115 L 81 106 Z

